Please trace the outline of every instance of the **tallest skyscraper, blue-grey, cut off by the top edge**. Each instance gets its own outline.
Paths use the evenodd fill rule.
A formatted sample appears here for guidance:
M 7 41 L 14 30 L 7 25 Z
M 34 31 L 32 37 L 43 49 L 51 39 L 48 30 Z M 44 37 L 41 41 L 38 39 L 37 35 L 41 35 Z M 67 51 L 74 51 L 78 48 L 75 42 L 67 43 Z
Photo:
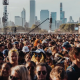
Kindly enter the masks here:
M 30 0 L 30 27 L 35 24 L 35 0 Z

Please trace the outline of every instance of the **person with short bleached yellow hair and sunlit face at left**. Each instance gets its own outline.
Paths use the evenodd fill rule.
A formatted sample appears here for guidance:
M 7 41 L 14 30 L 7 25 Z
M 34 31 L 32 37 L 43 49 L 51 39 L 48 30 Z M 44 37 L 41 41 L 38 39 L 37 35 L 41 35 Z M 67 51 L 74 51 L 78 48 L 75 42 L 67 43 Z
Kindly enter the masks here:
M 8 53 L 9 62 L 12 64 L 12 66 L 18 65 L 18 50 L 17 49 L 11 49 Z

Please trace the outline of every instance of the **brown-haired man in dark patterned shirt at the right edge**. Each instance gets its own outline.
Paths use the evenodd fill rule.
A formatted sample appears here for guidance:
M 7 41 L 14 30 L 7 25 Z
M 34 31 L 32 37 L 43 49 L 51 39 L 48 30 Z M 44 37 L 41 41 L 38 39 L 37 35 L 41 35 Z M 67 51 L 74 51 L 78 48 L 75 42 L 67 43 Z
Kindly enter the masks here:
M 68 80 L 78 80 L 80 77 L 80 48 L 73 47 L 69 52 L 69 56 L 72 64 L 66 70 Z

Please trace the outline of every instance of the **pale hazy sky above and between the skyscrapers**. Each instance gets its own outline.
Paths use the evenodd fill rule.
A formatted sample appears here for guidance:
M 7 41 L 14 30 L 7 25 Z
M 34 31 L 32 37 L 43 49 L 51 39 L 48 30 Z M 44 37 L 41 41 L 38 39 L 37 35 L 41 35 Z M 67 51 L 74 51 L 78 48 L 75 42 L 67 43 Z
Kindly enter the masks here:
M 57 20 L 60 19 L 60 2 L 63 3 L 65 17 L 69 21 L 69 16 L 77 21 L 80 17 L 80 0 L 35 0 L 36 16 L 40 19 L 40 10 L 48 9 L 50 12 L 57 12 Z M 9 0 L 8 13 L 9 20 L 14 21 L 14 16 L 21 16 L 22 9 L 26 9 L 26 21 L 30 18 L 30 0 Z M 2 0 L 0 0 L 0 17 L 3 15 Z

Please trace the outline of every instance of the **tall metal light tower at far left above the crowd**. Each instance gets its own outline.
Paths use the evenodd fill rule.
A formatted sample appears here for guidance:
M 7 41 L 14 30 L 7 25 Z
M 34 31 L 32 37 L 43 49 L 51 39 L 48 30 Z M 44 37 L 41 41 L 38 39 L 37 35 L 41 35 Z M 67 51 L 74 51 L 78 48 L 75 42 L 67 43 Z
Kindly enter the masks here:
M 3 0 L 4 12 L 2 17 L 2 22 L 3 22 L 4 34 L 7 34 L 7 21 L 8 21 L 7 5 L 9 5 L 9 1 Z

